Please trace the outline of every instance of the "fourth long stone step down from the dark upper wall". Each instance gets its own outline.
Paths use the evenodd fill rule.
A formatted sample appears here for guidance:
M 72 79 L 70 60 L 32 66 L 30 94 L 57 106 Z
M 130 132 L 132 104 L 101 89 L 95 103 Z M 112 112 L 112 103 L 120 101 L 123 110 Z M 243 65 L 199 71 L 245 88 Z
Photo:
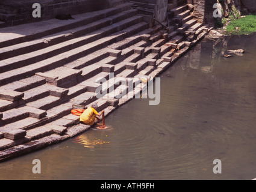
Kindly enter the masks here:
M 38 72 L 60 67 L 60 65 L 63 65 L 65 62 L 74 61 L 75 59 L 81 58 L 86 54 L 92 53 L 98 49 L 107 46 L 108 44 L 113 43 L 114 41 L 117 41 L 118 38 L 129 37 L 130 35 L 136 34 L 138 31 L 142 31 L 142 29 L 145 29 L 147 27 L 148 23 L 141 22 L 126 29 L 123 29 L 123 31 L 116 32 L 115 34 L 112 34 L 108 37 L 101 38 L 97 41 L 93 41 L 92 43 L 72 49 L 68 52 L 61 53 L 52 58 L 48 58 L 43 61 L 36 62 L 35 64 L 31 64 L 15 70 L 4 72 L 0 77 L 0 85 L 4 85 L 7 82 L 14 82 L 27 76 L 33 76 L 35 73 Z

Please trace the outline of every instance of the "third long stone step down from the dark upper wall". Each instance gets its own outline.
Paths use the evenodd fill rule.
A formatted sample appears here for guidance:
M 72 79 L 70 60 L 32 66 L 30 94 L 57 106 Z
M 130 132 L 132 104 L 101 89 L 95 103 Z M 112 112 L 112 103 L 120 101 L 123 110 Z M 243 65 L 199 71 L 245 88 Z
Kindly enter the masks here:
M 127 28 L 128 26 L 134 25 L 142 21 L 142 19 L 143 18 L 140 16 L 134 16 L 113 25 L 106 26 L 99 31 L 94 31 L 91 34 L 87 34 L 82 37 L 73 38 L 71 40 L 64 41 L 63 43 L 55 44 L 54 46 L 28 52 L 23 55 L 14 56 L 13 58 L 4 59 L 0 64 L 0 73 L 30 65 L 34 62 L 39 62 L 43 59 L 50 58 L 52 56 L 59 55 L 60 53 L 75 49 L 76 47 L 83 46 L 84 44 L 92 43 L 95 40 L 113 34 L 114 32 Z M 20 56 L 22 56 L 22 59 L 20 59 Z

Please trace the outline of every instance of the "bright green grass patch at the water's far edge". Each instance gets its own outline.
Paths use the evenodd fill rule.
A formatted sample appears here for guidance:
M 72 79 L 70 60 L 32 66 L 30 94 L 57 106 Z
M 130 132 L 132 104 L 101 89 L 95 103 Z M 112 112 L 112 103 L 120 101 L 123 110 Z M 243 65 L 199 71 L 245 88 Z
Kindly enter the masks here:
M 232 34 L 251 34 L 256 32 L 256 14 L 247 15 L 228 23 L 226 31 Z

